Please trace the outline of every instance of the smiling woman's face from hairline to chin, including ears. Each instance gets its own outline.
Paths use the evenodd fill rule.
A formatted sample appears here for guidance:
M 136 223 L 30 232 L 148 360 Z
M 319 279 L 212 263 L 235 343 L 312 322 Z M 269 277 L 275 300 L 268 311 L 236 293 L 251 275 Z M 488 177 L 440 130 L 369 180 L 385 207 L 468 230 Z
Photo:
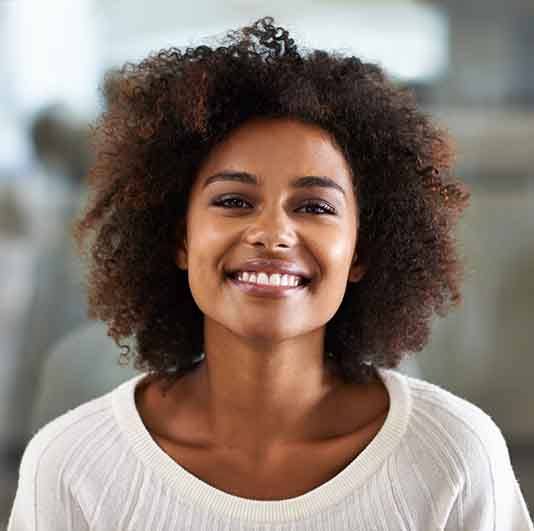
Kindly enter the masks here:
M 213 177 L 223 172 L 226 178 Z M 238 173 L 248 175 L 228 178 Z M 293 185 L 306 176 L 333 185 Z M 281 342 L 325 327 L 347 282 L 363 276 L 357 215 L 350 169 L 328 133 L 288 119 L 254 119 L 215 146 L 199 169 L 176 262 L 188 271 L 206 325 Z M 265 257 L 293 263 L 309 283 L 266 295 L 228 277 Z

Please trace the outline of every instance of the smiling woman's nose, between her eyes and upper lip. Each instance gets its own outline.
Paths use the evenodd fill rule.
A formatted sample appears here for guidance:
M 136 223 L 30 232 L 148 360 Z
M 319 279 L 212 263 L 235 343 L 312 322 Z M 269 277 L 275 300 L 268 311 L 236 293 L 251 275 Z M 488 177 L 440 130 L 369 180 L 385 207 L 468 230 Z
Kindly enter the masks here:
M 265 208 L 251 221 L 247 228 L 245 240 L 254 246 L 264 246 L 268 249 L 291 248 L 295 245 L 297 236 L 293 222 L 282 208 Z

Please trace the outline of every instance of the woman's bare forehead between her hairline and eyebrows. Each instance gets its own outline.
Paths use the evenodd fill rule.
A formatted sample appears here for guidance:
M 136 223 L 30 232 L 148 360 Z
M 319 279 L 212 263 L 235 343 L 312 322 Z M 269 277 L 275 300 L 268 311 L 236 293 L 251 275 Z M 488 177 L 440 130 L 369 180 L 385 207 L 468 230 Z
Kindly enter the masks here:
M 260 175 L 324 174 L 344 181 L 351 174 L 327 131 L 286 118 L 255 118 L 236 128 L 212 149 L 200 173 L 221 166 Z

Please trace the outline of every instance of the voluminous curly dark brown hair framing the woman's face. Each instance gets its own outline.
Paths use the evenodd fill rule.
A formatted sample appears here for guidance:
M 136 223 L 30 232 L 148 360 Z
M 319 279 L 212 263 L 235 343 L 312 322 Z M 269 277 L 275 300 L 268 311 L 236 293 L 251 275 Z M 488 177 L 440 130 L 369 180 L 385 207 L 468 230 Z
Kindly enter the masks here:
M 203 314 L 174 256 L 196 173 L 243 122 L 292 118 L 330 133 L 354 176 L 367 272 L 327 323 L 325 363 L 368 382 L 420 351 L 434 314 L 461 301 L 454 229 L 470 194 L 452 176 L 452 141 L 379 66 L 299 51 L 272 17 L 220 44 L 161 50 L 105 76 L 90 197 L 74 227 L 90 262 L 89 315 L 127 359 L 133 349 L 137 369 L 170 382 L 194 370 Z

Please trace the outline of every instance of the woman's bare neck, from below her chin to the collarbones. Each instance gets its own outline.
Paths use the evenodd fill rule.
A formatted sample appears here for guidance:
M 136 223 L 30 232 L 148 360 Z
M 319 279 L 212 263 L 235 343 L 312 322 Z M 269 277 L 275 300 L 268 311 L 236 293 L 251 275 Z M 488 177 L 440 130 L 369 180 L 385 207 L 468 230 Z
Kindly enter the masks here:
M 205 325 L 205 358 L 187 375 L 188 395 L 215 445 L 258 451 L 319 437 L 343 384 L 324 361 L 324 329 L 277 344 L 243 342 Z

